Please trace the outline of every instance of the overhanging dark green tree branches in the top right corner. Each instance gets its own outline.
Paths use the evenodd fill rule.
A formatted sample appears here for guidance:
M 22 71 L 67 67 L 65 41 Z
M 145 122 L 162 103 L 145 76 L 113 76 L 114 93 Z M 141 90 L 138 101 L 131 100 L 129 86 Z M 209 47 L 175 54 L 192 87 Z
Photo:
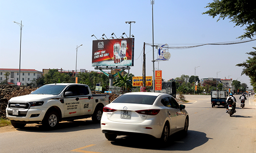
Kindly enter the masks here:
M 209 14 L 212 18 L 219 15 L 220 19 L 229 18 L 235 26 L 246 26 L 246 32 L 238 38 L 250 38 L 256 35 L 256 7 L 253 0 L 213 0 L 208 3 L 208 11 L 202 14 Z

